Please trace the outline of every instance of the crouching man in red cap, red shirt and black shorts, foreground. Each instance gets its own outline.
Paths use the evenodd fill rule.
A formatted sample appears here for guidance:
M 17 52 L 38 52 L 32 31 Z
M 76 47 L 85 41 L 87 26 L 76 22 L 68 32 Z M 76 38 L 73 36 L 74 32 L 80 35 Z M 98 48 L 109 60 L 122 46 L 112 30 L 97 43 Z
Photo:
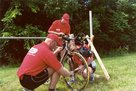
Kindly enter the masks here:
M 58 61 L 56 54 L 62 47 L 56 49 L 57 45 L 60 45 L 57 35 L 48 34 L 45 41 L 34 45 L 28 51 L 17 71 L 20 84 L 24 87 L 23 91 L 34 91 L 49 78 L 51 79 L 49 91 L 55 91 L 60 75 L 73 74 Z

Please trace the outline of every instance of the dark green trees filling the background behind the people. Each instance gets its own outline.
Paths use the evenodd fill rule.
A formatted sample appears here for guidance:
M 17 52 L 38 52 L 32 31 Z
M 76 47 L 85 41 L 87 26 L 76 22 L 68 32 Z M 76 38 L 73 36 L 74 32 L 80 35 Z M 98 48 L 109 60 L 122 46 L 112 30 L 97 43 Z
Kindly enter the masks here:
M 0 11 L 3 13 L 2 19 L 0 18 L 2 21 L 0 24 L 3 24 L 0 25 L 3 26 L 0 30 L 1 37 L 45 36 L 52 22 L 60 19 L 65 12 L 70 14 L 71 33 L 89 34 L 89 10 L 92 10 L 94 44 L 98 50 L 103 50 L 105 53 L 117 49 L 136 50 L 135 0 L 8 0 L 7 2 L 4 3 L 3 0 L 0 2 L 0 5 L 3 5 L 1 7 L 3 10 Z M 0 59 L 21 59 L 27 49 L 39 42 L 40 40 L 0 40 Z M 2 61 L 4 62 L 9 61 Z

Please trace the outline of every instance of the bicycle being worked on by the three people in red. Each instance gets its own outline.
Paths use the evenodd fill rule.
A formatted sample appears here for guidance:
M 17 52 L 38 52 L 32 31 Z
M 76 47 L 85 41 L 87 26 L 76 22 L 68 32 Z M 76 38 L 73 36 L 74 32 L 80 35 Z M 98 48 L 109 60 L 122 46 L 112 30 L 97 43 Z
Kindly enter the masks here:
M 64 40 L 64 53 L 60 59 L 60 62 L 64 67 L 74 72 L 74 75 L 71 77 L 63 77 L 64 81 L 71 90 L 76 89 L 77 91 L 81 91 L 88 85 L 89 82 L 88 64 L 84 57 L 78 51 L 71 48 L 71 41 L 73 41 L 73 38 L 62 36 L 62 39 Z M 75 62 L 74 57 L 77 57 L 78 59 L 80 59 L 80 62 L 82 62 L 83 70 L 85 69 L 87 72 L 86 78 L 84 78 L 82 74 L 80 74 L 82 71 L 79 72 L 80 67 Z

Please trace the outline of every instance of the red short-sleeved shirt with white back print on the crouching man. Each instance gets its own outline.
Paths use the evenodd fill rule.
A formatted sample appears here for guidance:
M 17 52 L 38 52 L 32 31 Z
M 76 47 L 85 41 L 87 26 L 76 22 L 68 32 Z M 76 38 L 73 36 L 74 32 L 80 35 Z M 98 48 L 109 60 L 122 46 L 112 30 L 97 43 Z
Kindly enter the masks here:
M 33 46 L 28 51 L 17 71 L 17 75 L 19 78 L 22 78 L 23 74 L 35 76 L 47 67 L 58 71 L 61 66 L 56 55 L 49 49 L 45 42 L 42 42 Z

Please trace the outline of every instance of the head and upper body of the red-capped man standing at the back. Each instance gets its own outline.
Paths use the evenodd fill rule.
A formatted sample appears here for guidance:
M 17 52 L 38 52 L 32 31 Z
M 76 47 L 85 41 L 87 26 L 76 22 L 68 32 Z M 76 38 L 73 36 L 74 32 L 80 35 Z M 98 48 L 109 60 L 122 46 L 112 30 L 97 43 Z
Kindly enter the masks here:
M 69 25 L 69 14 L 63 14 L 60 20 L 55 20 L 50 26 L 48 33 L 53 33 L 56 35 L 69 35 L 70 34 L 70 25 Z

